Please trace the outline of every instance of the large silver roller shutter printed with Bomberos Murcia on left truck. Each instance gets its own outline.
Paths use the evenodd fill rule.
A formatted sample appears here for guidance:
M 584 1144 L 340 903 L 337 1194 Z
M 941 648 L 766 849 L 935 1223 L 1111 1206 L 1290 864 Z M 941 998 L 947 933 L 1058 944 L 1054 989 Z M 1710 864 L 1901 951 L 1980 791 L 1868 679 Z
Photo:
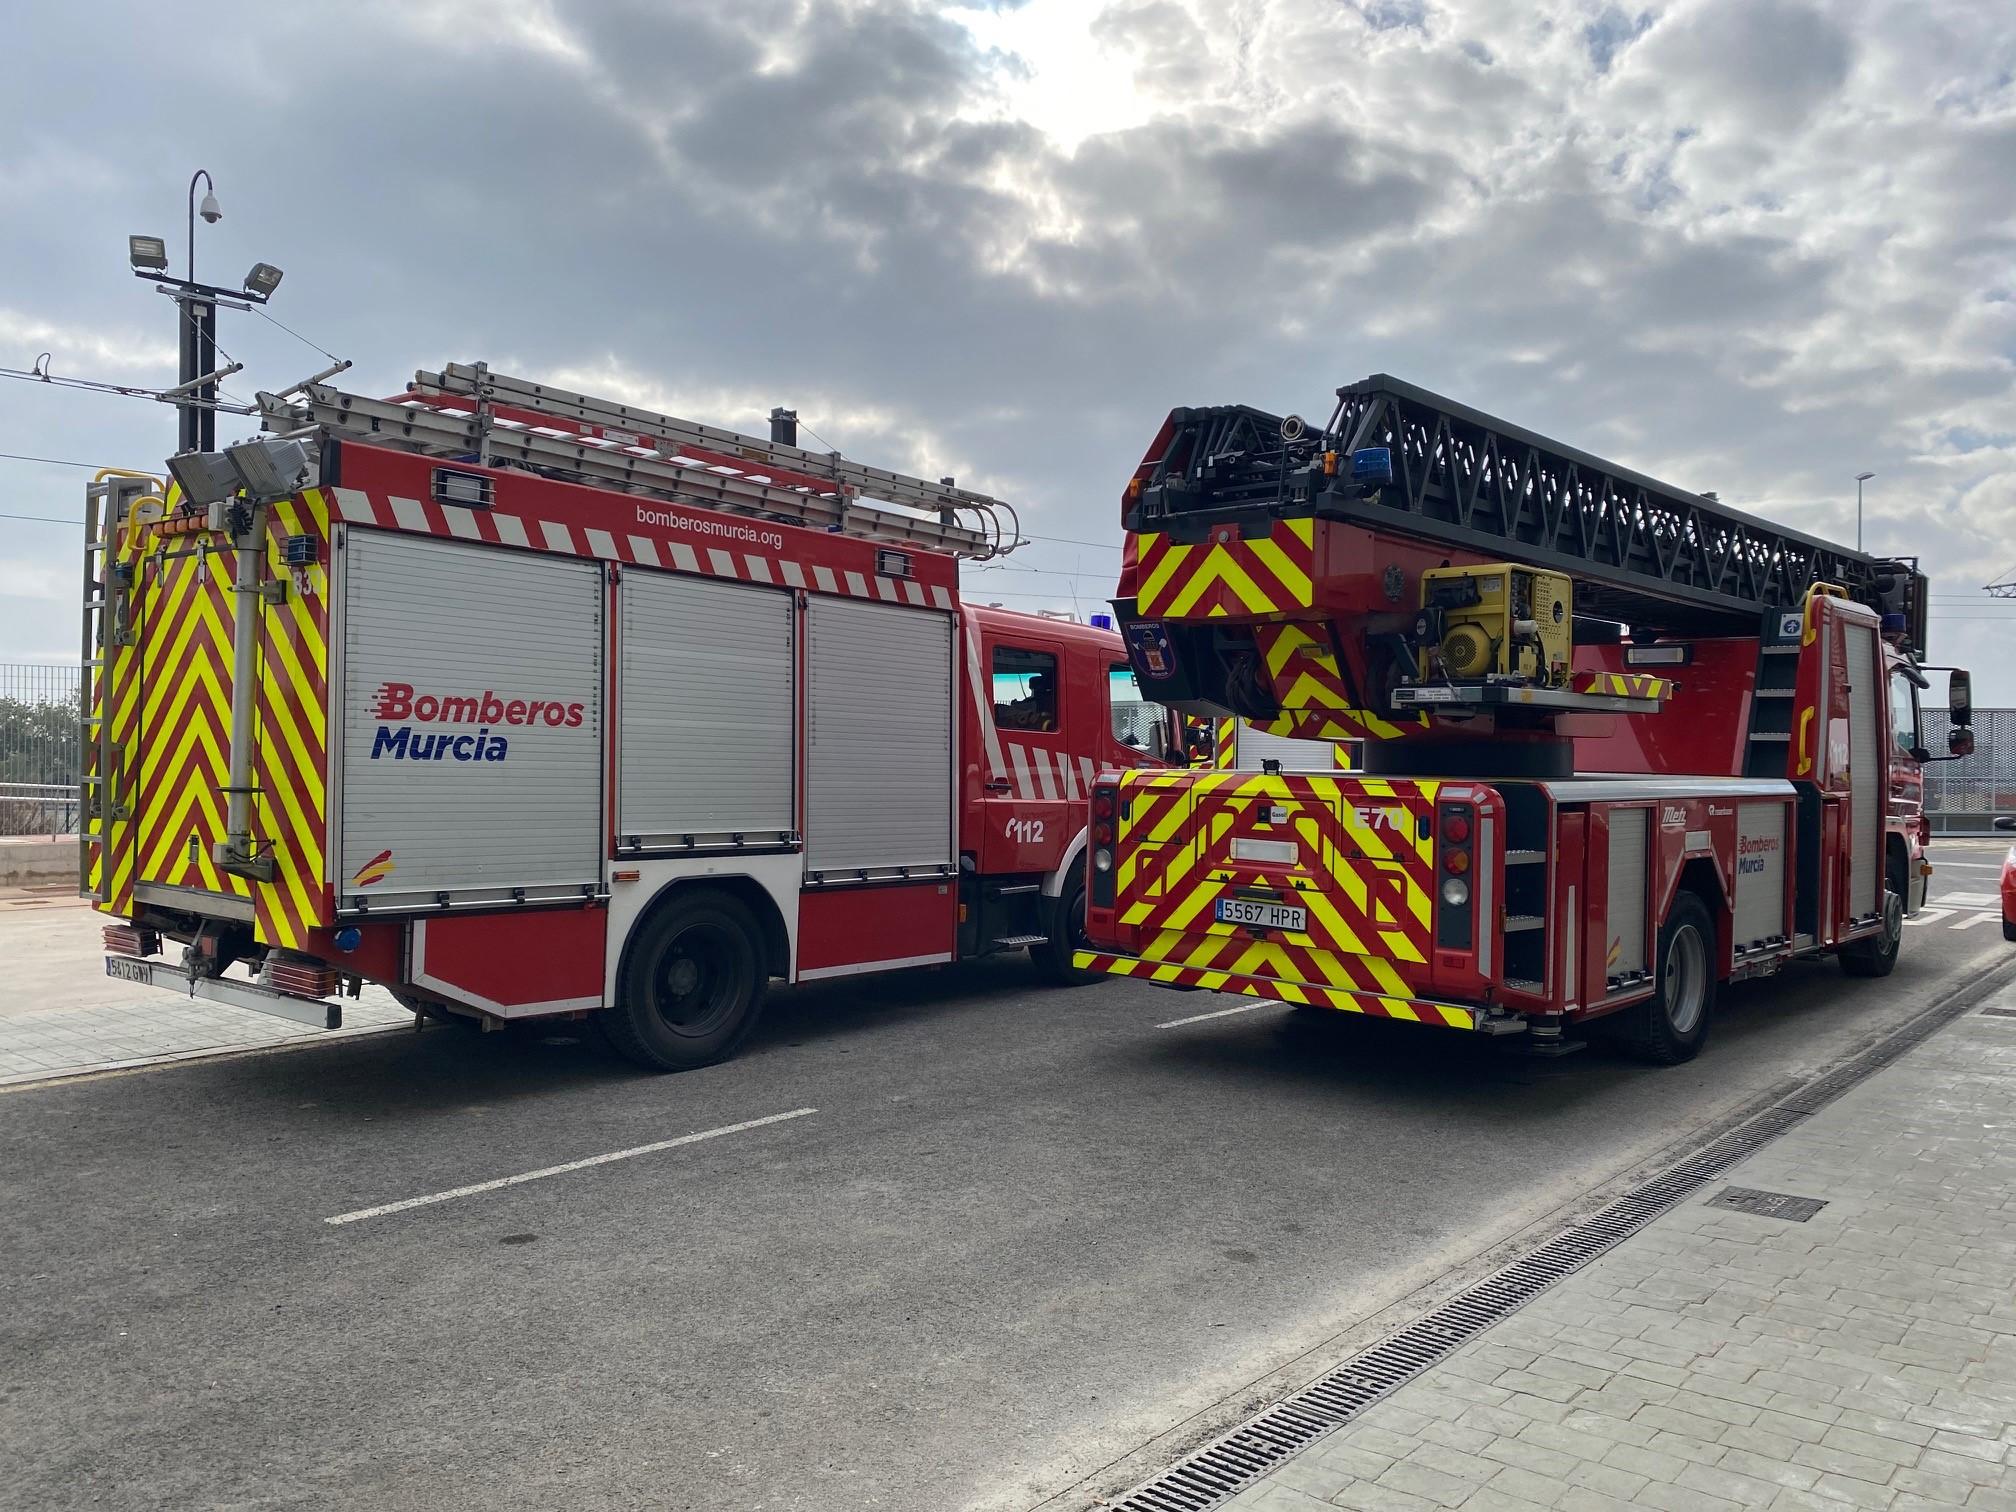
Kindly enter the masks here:
M 601 564 L 349 530 L 343 581 L 341 907 L 601 887 Z

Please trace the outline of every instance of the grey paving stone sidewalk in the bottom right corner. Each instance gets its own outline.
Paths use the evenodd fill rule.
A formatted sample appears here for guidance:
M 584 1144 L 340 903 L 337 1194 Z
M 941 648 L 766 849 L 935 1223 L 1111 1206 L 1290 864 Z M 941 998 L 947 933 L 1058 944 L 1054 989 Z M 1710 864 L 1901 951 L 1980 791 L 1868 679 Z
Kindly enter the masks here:
M 1976 1010 L 1226 1506 L 1990 1512 L 2012 1445 L 2016 1016 Z

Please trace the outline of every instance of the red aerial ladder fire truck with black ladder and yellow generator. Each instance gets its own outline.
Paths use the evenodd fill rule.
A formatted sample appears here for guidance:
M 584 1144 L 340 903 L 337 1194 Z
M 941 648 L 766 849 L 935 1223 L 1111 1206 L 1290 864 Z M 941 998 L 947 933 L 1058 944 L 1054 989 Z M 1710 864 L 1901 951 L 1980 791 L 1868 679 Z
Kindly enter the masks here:
M 1931 875 L 1915 560 L 1385 375 L 1320 429 L 1171 411 L 1121 514 L 1143 689 L 1361 754 L 1103 774 L 1085 970 L 1679 1062 L 1722 982 L 1895 964 Z

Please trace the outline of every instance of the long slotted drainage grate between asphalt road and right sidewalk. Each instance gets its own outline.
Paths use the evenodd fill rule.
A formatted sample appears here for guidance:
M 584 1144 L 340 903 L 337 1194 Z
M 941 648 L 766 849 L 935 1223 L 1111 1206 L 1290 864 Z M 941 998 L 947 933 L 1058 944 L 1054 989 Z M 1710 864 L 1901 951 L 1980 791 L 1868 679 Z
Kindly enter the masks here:
M 1768 1145 L 1806 1115 L 1833 1103 L 1855 1083 L 1881 1070 L 1933 1032 L 1974 1008 L 1990 992 L 2016 976 L 2016 962 L 2002 966 L 1970 990 L 1947 998 L 1909 1020 L 1887 1038 L 1851 1056 L 1839 1068 L 1794 1087 L 1776 1105 L 1695 1149 L 1641 1187 L 1627 1191 L 1595 1218 L 1556 1234 L 1522 1260 L 1460 1292 L 1427 1316 L 1345 1361 L 1329 1375 L 1246 1419 L 1216 1443 L 1141 1482 L 1103 1506 L 1113 1512 L 1208 1512 L 1236 1496 L 1274 1466 L 1290 1460 L 1322 1435 L 1343 1427 L 1381 1397 L 1441 1363 L 1462 1343 L 1522 1308 L 1562 1276 L 1623 1244 L 1659 1214 L 1691 1198 L 1736 1161 Z M 2016 1014 L 2012 1014 L 2016 1016 Z M 1742 1187 L 1730 1187 L 1730 1193 Z M 1724 1193 L 1724 1195 L 1730 1195 Z M 1814 1204 L 1814 1198 L 1750 1193 L 1786 1204 Z M 1720 1202 L 1720 1200 L 1718 1200 Z M 1730 1204 L 1722 1204 L 1730 1206 Z M 1746 1208 L 1744 1212 L 1756 1212 Z M 1788 1216 L 1788 1214 L 1776 1214 Z M 1800 1214 L 1804 1222 L 1812 1214 Z

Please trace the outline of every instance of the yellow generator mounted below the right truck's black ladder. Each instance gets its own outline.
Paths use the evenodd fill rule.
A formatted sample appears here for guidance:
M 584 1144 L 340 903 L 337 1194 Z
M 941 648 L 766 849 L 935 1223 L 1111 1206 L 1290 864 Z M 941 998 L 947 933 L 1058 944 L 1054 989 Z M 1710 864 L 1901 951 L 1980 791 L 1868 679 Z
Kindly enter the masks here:
M 1574 603 L 1568 579 L 1510 562 L 1421 573 L 1421 677 L 1522 677 L 1564 687 Z

